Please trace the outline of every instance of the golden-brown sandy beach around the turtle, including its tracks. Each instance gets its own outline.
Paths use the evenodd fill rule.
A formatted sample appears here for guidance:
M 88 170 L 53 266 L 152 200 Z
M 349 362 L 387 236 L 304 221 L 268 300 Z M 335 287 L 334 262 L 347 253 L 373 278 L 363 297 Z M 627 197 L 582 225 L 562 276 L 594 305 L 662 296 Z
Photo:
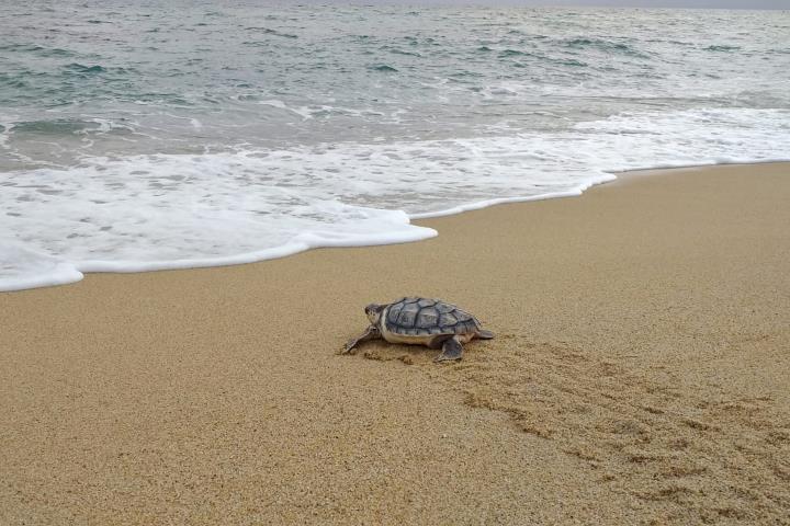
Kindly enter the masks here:
M 0 294 L 0 524 L 790 524 L 788 203 L 790 164 L 632 174 Z M 407 294 L 497 338 L 335 354 Z

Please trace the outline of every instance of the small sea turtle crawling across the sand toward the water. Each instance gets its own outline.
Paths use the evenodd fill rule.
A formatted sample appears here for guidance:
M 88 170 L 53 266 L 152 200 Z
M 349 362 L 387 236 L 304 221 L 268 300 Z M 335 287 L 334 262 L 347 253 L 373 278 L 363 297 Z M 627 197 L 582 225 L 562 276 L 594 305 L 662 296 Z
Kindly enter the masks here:
M 461 359 L 462 344 L 475 338 L 494 338 L 494 333 L 481 328 L 474 316 L 440 299 L 400 298 L 387 305 L 371 304 L 365 307 L 365 315 L 371 325 L 349 341 L 342 354 L 361 342 L 383 338 L 390 343 L 441 347 L 436 362 L 445 362 Z

